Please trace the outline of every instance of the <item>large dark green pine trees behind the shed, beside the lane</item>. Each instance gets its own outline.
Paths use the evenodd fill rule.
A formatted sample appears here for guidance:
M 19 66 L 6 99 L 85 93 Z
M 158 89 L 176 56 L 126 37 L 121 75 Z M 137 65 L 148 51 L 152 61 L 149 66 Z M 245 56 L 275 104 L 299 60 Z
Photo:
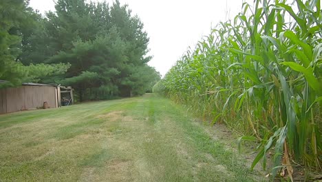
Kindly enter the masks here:
M 21 61 L 70 63 L 70 68 L 41 82 L 71 85 L 83 101 L 143 94 L 160 79 L 147 65 L 147 33 L 127 6 L 59 0 L 55 8 L 46 18 L 36 16 Z

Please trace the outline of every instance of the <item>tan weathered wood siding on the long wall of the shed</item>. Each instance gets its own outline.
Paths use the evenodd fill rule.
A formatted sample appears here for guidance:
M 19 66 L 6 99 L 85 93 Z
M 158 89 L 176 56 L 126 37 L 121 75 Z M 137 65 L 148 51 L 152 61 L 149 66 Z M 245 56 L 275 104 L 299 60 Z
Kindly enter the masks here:
M 0 114 L 43 107 L 47 102 L 56 108 L 56 88 L 52 86 L 23 85 L 19 88 L 0 89 Z

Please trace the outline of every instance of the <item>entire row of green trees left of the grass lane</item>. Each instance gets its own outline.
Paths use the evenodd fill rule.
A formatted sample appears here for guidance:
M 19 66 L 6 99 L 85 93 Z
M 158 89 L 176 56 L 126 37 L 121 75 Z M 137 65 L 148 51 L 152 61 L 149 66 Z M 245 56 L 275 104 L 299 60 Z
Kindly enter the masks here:
M 71 85 L 79 101 L 151 91 L 160 74 L 147 63 L 149 37 L 138 16 L 111 5 L 58 0 L 45 16 L 29 1 L 0 2 L 0 87 Z

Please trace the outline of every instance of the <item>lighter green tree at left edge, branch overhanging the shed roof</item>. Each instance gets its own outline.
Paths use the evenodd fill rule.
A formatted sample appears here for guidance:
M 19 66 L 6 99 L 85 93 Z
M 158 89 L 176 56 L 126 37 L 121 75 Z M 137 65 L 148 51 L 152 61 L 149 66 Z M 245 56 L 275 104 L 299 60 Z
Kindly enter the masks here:
M 30 34 L 36 22 L 35 17 L 37 14 L 28 8 L 28 1 L 0 2 L 0 79 L 8 81 L 1 84 L 0 88 L 38 81 L 48 75 L 63 74 L 69 68 L 69 64 L 21 63 L 21 44 L 25 43 L 25 36 Z

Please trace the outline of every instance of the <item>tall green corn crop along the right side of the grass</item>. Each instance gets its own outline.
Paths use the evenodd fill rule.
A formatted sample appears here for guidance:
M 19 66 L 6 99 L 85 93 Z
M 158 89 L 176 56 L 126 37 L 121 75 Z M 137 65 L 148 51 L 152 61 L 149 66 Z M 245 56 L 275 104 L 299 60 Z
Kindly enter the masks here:
M 322 12 L 319 0 L 255 0 L 188 50 L 155 92 L 258 141 L 252 168 L 273 152 L 272 176 L 321 172 Z

